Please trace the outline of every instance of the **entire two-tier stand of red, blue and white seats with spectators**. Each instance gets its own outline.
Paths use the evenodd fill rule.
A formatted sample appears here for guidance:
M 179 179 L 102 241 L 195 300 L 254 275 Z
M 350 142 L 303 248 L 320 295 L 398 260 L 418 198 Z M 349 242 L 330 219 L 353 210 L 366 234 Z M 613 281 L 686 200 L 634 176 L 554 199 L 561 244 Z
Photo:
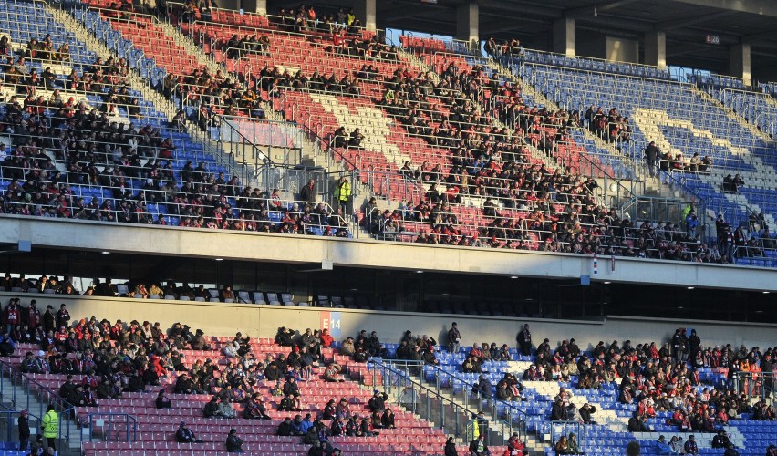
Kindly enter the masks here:
M 492 56 L 496 61 L 409 36 L 394 47 L 357 26 L 329 21 L 322 28 L 295 16 L 190 13 L 177 21 L 192 40 L 181 44 L 170 24 L 130 5 L 94 0 L 72 14 L 84 28 L 78 32 L 88 31 L 112 54 L 98 55 L 101 47 L 79 40 L 43 3 L 0 1 L 8 34 L 2 45 L 8 102 L 0 107 L 0 122 L 10 131 L 0 145 L 4 213 L 351 237 L 351 212 L 361 229 L 384 240 L 606 254 L 613 268 L 616 255 L 777 266 L 768 229 L 777 214 L 777 162 L 766 136 L 773 133 L 774 101 L 771 94 L 745 91 L 735 79 L 680 84 L 655 68 L 523 49 L 522 57 Z M 213 58 L 203 61 L 200 53 Z M 541 106 L 540 97 L 560 108 Z M 181 107 L 175 116 L 167 114 L 169 104 Z M 291 188 L 254 191 L 205 141 L 228 116 L 304 124 L 340 166 L 357 171 L 357 182 L 371 194 L 401 205 L 384 211 L 368 200 L 351 209 L 346 199 L 333 208 L 315 193 L 297 198 Z M 631 219 L 596 190 L 596 178 L 636 177 L 632 169 L 650 141 L 668 154 L 658 161 L 659 179 L 681 185 L 713 215 L 720 212 L 715 236 L 702 232 L 695 212 L 683 213 L 679 222 Z M 78 293 L 67 278 L 63 282 L 7 275 L 2 287 Z M 371 307 L 368 298 L 346 292 L 308 299 L 174 282 L 96 283 L 86 295 Z M 570 431 L 588 454 L 622 454 L 631 440 L 653 454 L 659 434 L 688 441 L 689 432 L 699 454 L 719 454 L 713 444 L 722 430 L 748 455 L 767 451 L 777 431 L 765 401 L 773 389 L 775 348 L 704 349 L 685 328 L 666 345 L 600 342 L 581 350 L 571 347 L 574 340 L 552 347 L 546 339 L 520 352 L 507 347 L 512 341 L 451 352 L 433 338 L 406 334 L 404 344 L 381 344 L 362 334 L 349 352 L 294 329 L 286 340 L 285 328 L 275 339 L 252 339 L 205 337 L 187 326 L 163 331 L 137 320 L 70 324 L 62 306 L 35 316 L 12 300 L 0 331 L 0 348 L 12 349 L 0 365 L 8 378 L 22 378 L 28 394 L 58 391 L 51 398 L 59 399 L 50 400 L 80 434 L 88 456 L 220 454 L 232 429 L 247 451 L 308 454 L 310 442 L 303 444 L 301 435 L 276 435 L 288 412 L 316 418 L 330 399 L 343 398 L 340 411 L 368 419 L 370 399 L 394 387 L 384 379 L 395 366 L 418 368 L 406 376 L 425 383 L 420 389 L 450 390 L 451 400 L 464 404 L 456 407 L 475 403 L 492 420 L 518 420 L 534 449 L 547 455 L 564 453 L 558 438 Z M 496 315 L 495 307 L 489 311 Z M 26 332 L 19 326 L 26 319 L 32 328 L 30 318 L 36 328 Z M 270 364 L 275 368 L 268 370 Z M 192 384 L 181 380 L 187 371 L 196 378 Z M 516 372 L 523 372 L 521 381 L 511 377 Z M 279 380 L 289 376 L 301 383 L 297 395 L 284 391 L 295 388 L 287 386 L 291 381 Z M 166 394 L 172 407 L 160 408 L 155 399 Z M 261 402 L 251 402 L 252 395 Z M 596 409 L 593 420 L 579 411 L 585 404 L 585 414 Z M 248 406 L 266 415 L 262 424 L 243 417 Z M 442 430 L 400 404 L 391 407 L 396 428 L 367 423 L 356 430 L 353 420 L 351 435 L 327 437 L 322 430 L 313 440 L 351 454 L 442 452 Z M 101 416 L 116 421 L 106 430 Z M 331 421 L 322 425 L 336 428 Z M 561 428 L 556 421 L 564 422 Z M 190 441 L 177 441 L 186 427 L 194 433 Z M 83 441 L 87 433 L 106 441 Z M 468 440 L 456 441 L 461 453 L 469 451 Z M 492 446 L 493 454 L 502 451 L 510 454 L 502 444 Z

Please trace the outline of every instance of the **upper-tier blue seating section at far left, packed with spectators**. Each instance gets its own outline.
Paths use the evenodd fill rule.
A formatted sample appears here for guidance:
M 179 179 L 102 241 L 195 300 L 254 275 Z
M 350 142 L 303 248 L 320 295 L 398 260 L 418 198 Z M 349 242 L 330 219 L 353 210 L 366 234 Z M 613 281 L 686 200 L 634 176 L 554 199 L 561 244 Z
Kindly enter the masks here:
M 11 27 L 7 52 L 26 56 L 20 65 L 9 54 L 4 74 L 9 103 L 0 115 L 16 128 L 0 146 L 5 213 L 348 235 L 331 207 L 290 201 L 277 191 L 254 192 L 230 177 L 181 122 L 168 121 L 132 88 L 129 68 L 143 59 L 129 49 L 125 57 L 103 61 L 43 4 L 0 7 Z M 27 17 L 35 17 L 35 27 Z M 57 49 L 69 46 L 67 58 L 52 58 L 38 38 Z M 22 71 L 30 76 L 18 75 L 27 65 Z

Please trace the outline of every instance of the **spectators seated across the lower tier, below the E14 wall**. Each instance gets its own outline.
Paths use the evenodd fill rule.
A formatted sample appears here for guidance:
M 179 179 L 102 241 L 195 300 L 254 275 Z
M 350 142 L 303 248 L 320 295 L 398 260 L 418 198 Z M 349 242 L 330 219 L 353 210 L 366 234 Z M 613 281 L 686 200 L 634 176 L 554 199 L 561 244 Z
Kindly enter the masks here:
M 62 282 L 56 276 L 41 277 L 37 281 L 26 281 L 22 276 L 15 282 L 9 275 L 4 279 L 4 288 L 8 289 L 38 285 L 57 293 L 72 288 L 67 276 Z M 115 293 L 112 286 L 106 281 L 106 284 L 98 285 L 97 292 Z M 171 383 L 175 394 L 211 395 L 211 401 L 202 411 L 205 417 L 233 419 L 240 416 L 267 420 L 270 418 L 268 405 L 257 389 L 260 385 L 269 385 L 270 394 L 280 398 L 278 410 L 297 412 L 278 426 L 278 435 L 301 436 L 316 449 L 331 447 L 328 438 L 332 436 L 374 436 L 381 429 L 394 427 L 393 413 L 386 405 L 388 397 L 379 390 L 375 390 L 369 400 L 368 412 L 359 414 L 358 410 L 351 409 L 347 399 L 342 398 L 329 400 L 320 416 L 313 417 L 310 413 L 303 416 L 302 410 L 306 406 L 305 398 L 300 394 L 301 383 L 316 378 L 328 382 L 345 379 L 343 368 L 337 362 L 326 362 L 323 358 L 323 349 L 334 344 L 326 329 L 314 331 L 308 328 L 304 333 L 298 333 L 280 327 L 275 344 L 291 347 L 291 352 L 288 356 L 268 354 L 264 359 L 257 358 L 249 336 L 237 333 L 231 342 L 221 347 L 226 364 L 198 359 L 190 367 L 185 362 L 183 350 L 213 350 L 215 346 L 202 330 L 192 330 L 180 323 L 167 330 L 159 323 L 149 321 L 133 320 L 128 324 L 96 317 L 72 324 L 64 304 L 59 309 L 47 306 L 41 312 L 36 308 L 35 300 L 30 306 L 23 307 L 19 299 L 13 298 L 3 311 L 3 324 L 0 350 L 7 354 L 13 353 L 18 343 L 39 345 L 39 351 L 25 354 L 20 369 L 27 373 L 67 374 L 69 377 L 59 393 L 77 407 L 96 407 L 101 399 L 121 399 L 128 391 L 143 391 Z M 452 337 L 449 342 L 456 347 L 461 333 L 451 327 L 448 337 Z M 579 389 L 600 389 L 605 383 L 619 381 L 618 401 L 634 407 L 628 422 L 628 429 L 634 432 L 649 431 L 648 421 L 656 418 L 658 412 L 669 412 L 667 424 L 687 432 L 718 431 L 730 420 L 740 419 L 742 413 L 749 413 L 751 420 L 775 419 L 773 406 L 765 400 L 750 403 L 751 393 L 756 389 L 763 389 L 766 395 L 773 390 L 773 377 L 761 378 L 761 373 L 772 372 L 775 348 L 761 351 L 760 347 L 705 347 L 695 330 L 688 332 L 685 328 L 678 328 L 663 344 L 645 342 L 635 346 L 630 340 L 622 344 L 600 341 L 590 352 L 582 350 L 574 338 L 562 341 L 557 347 L 552 347 L 550 340 L 545 338 L 534 347 L 528 326 L 522 328 L 516 340 L 520 352 L 528 351 L 533 355 L 531 367 L 523 372 L 523 376 L 505 372 L 495 387 L 481 375 L 472 387 L 472 394 L 487 400 L 522 400 L 521 380 L 575 381 Z M 433 337 L 416 336 L 408 330 L 400 338 L 396 358 L 436 365 L 439 364 L 435 355 L 438 348 Z M 357 363 L 366 362 L 370 357 L 388 357 L 388 350 L 377 332 L 368 333 L 367 330 L 360 331 L 357 337 L 345 338 L 338 351 Z M 482 371 L 482 363 L 489 360 L 512 358 L 506 344 L 502 347 L 496 343 L 473 344 L 465 351 L 461 365 L 464 372 Z M 727 368 L 727 385 L 703 384 L 699 368 Z M 737 378 L 738 372 L 754 377 Z M 75 375 L 83 379 L 74 381 Z M 165 378 L 174 378 L 174 382 Z M 554 399 L 552 420 L 595 423 L 596 408 L 586 403 L 576 409 L 571 397 L 568 389 L 559 391 Z M 161 409 L 173 406 L 163 388 L 156 405 Z M 325 420 L 331 420 L 331 423 L 326 424 Z M 186 429 L 185 425 L 181 426 L 178 439 L 196 441 L 193 432 Z M 728 446 L 722 437 L 719 440 L 720 448 Z M 234 445 L 236 442 L 233 439 Z M 574 451 L 575 443 L 574 438 L 565 436 L 565 441 L 555 442 L 556 451 L 559 448 L 562 453 L 565 453 L 564 448 Z M 682 444 L 682 441 L 675 439 L 667 443 L 668 446 L 672 444 Z M 331 447 L 330 450 L 336 449 Z

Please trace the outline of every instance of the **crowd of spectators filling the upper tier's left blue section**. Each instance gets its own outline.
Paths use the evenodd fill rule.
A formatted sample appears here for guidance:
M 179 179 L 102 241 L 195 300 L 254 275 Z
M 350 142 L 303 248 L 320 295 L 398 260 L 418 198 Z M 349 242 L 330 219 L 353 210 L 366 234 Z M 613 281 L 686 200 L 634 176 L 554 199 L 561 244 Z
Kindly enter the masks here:
M 47 36 L 41 43 L 50 41 Z M 47 52 L 41 46 L 31 40 L 26 55 L 58 58 L 60 51 Z M 98 57 L 82 74 L 74 68 L 67 79 L 53 73 L 50 78 L 37 78 L 35 70 L 26 67 L 25 56 L 16 63 L 8 56 L 2 69 L 6 84 L 16 85 L 17 91 L 4 100 L 5 115 L 0 119 L 0 127 L 12 140 L 11 147 L 0 145 L 0 169 L 10 181 L 0 195 L 5 213 L 123 223 L 175 220 L 187 227 L 278 233 L 310 233 L 310 225 L 316 225 L 328 235 L 347 236 L 345 221 L 331 217 L 332 211 L 324 205 L 299 202 L 286 211 L 279 192 L 243 187 L 236 177 L 208 171 L 204 162 L 195 167 L 189 161 L 181 171 L 174 171 L 177 151 L 171 138 L 163 136 L 166 132 L 150 124 L 136 129 L 115 117 L 121 108 L 130 118 L 142 119 L 139 99 L 126 85 L 129 67 L 123 58 L 103 61 Z M 22 80 L 15 73 L 26 76 Z M 230 101 L 240 92 L 220 73 L 210 75 L 202 69 L 181 78 L 185 84 L 179 90 L 207 86 L 209 90 L 192 97 L 207 98 L 211 105 L 212 97 L 220 97 L 235 108 L 256 107 L 255 100 L 244 97 Z M 36 96 L 37 86 L 53 92 L 48 98 Z M 63 93 L 71 89 L 102 101 L 91 107 L 86 100 L 66 99 Z M 207 103 L 203 107 L 210 109 Z M 169 122 L 171 130 L 184 127 L 181 113 Z M 208 116 L 211 119 L 212 112 Z M 64 163 L 66 171 L 58 171 L 56 163 Z M 75 185 L 98 185 L 107 192 L 103 198 L 79 196 L 71 188 Z M 164 204 L 169 216 L 156 216 L 149 203 Z M 283 220 L 271 221 L 269 211 L 282 212 Z

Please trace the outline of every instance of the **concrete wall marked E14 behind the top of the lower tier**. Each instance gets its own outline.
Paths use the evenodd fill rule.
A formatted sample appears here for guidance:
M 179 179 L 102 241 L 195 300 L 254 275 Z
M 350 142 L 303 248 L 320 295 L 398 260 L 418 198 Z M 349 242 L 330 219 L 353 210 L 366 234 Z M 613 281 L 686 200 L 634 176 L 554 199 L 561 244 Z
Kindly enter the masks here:
M 0 293 L 0 302 L 19 295 Z M 666 341 L 677 327 L 697 329 L 702 343 L 744 344 L 748 347 L 777 346 L 777 325 L 758 323 L 731 324 L 727 322 L 687 321 L 671 319 L 650 319 L 608 316 L 600 321 L 533 320 L 497 316 L 460 316 L 415 314 L 399 312 L 377 312 L 356 309 L 323 309 L 316 307 L 255 306 L 240 304 L 184 302 L 171 300 L 141 300 L 122 298 L 98 298 L 90 296 L 63 295 L 21 295 L 22 305 L 28 306 L 36 299 L 37 307 L 43 312 L 47 305 L 65 303 L 72 321 L 96 316 L 98 319 L 117 318 L 125 322 L 133 319 L 142 322 L 161 323 L 169 327 L 181 322 L 194 328 L 202 328 L 207 335 L 232 336 L 236 331 L 251 337 L 275 337 L 279 326 L 304 331 L 307 327 L 321 328 L 324 320 L 339 321 L 339 328 L 333 329 L 339 339 L 356 336 L 361 329 L 378 331 L 384 342 L 397 342 L 406 330 L 414 334 L 428 334 L 445 343 L 445 334 L 451 322 L 458 323 L 462 344 L 473 342 L 497 342 L 515 346 L 515 336 L 523 323 L 529 323 L 536 343 L 544 337 L 552 343 L 574 337 L 580 347 L 596 345 L 599 340 L 607 343 L 613 339 L 623 342 L 630 339 L 634 345 L 648 341 Z

